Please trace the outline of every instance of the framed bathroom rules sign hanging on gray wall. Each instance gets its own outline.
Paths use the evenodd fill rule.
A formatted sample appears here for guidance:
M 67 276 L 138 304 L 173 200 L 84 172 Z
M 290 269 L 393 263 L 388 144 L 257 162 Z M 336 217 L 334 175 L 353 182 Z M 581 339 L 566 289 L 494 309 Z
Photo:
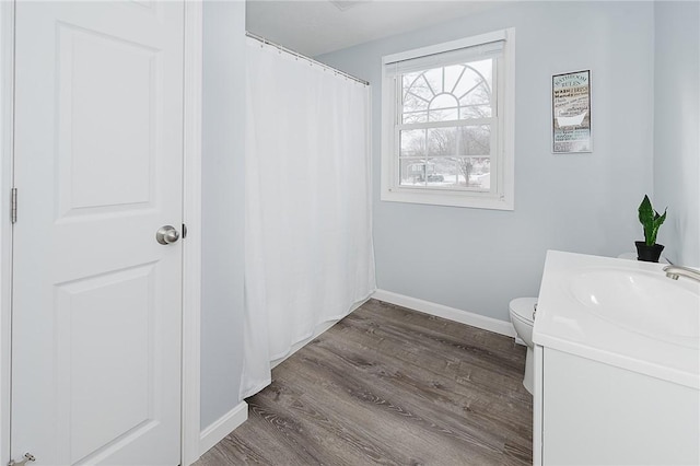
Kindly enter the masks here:
M 552 152 L 593 152 L 591 70 L 551 78 Z

